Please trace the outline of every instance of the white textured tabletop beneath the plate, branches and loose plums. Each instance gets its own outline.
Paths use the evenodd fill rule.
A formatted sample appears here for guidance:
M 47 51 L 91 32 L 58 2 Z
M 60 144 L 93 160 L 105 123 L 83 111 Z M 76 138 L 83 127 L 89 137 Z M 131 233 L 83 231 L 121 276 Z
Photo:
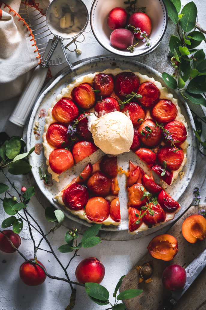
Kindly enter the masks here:
M 183 4 L 186 4 L 189 1 L 182 1 Z M 205 0 L 195 0 L 195 4 L 198 8 L 198 21 L 200 25 L 206 29 L 206 19 L 205 19 Z M 90 10 L 91 2 L 86 0 L 86 5 L 88 10 Z M 170 22 L 168 23 L 167 32 L 171 32 Z M 82 50 L 82 55 L 77 55 L 76 53 L 70 54 L 70 61 L 73 63 L 77 60 L 84 59 L 86 57 L 91 57 L 95 55 L 106 55 L 108 51 L 104 50 L 103 47 L 94 38 L 93 34 L 85 33 L 85 41 L 83 43 L 78 43 L 78 47 Z M 201 43 L 198 48 L 204 48 L 206 52 L 205 43 Z M 164 39 L 161 44 L 154 52 L 155 55 L 158 55 L 160 51 L 165 52 L 165 43 Z M 157 54 L 156 54 L 157 52 Z M 138 57 L 137 57 L 138 60 Z M 157 59 L 158 61 L 158 59 Z M 58 69 L 62 69 L 63 66 L 60 66 Z M 57 68 L 55 68 L 57 70 Z M 54 72 L 54 71 L 53 71 Z M 21 135 L 22 129 L 16 127 L 8 121 L 10 113 L 14 108 L 18 98 L 6 100 L 1 103 L 1 114 L 0 114 L 0 132 L 6 131 L 10 136 L 12 135 Z M 201 108 L 199 106 L 195 109 L 196 113 L 201 115 Z M 204 108 L 205 111 L 205 108 Z M 1 181 L 6 183 L 6 179 L 2 178 L 0 175 Z M 21 188 L 21 185 L 27 187 L 27 180 L 25 176 L 13 176 L 15 184 Z M 198 184 L 196 184 L 198 186 Z M 201 191 L 201 196 L 203 199 L 201 203 L 204 203 L 204 197 L 206 197 L 206 183 L 204 183 Z M 40 206 L 39 202 L 35 197 L 32 197 L 29 203 L 29 211 L 32 215 L 35 216 L 37 221 L 41 224 L 44 231 L 48 231 L 51 224 L 46 221 L 44 218 L 44 209 Z M 8 217 L 4 212 L 1 204 L 1 221 Z M 169 229 L 169 226 L 164 230 Z M 163 233 L 164 230 L 159 231 L 157 234 Z M 62 263 L 66 265 L 71 255 L 62 254 L 57 251 L 57 248 L 64 244 L 64 235 L 67 231 L 66 228 L 59 228 L 54 234 L 49 235 L 49 240 L 51 241 L 55 252 Z M 22 244 L 19 248 L 27 257 L 32 257 L 33 253 L 33 244 L 29 235 L 27 226 L 23 228 L 23 231 L 20 234 L 22 238 Z M 35 240 L 39 241 L 39 236 L 37 233 L 34 233 Z M 81 236 L 80 236 L 81 237 Z M 133 265 L 146 253 L 146 247 L 149 241 L 153 238 L 153 235 L 132 240 L 132 241 L 102 241 L 99 245 L 90 248 L 90 249 L 80 249 L 80 257 L 77 257 L 71 263 L 69 269 L 69 276 L 71 280 L 76 280 L 75 278 L 75 268 L 83 258 L 94 256 L 97 257 L 105 266 L 106 272 L 105 277 L 102 281 L 102 285 L 106 286 L 110 292 L 110 301 L 113 302 L 113 291 L 116 286 L 119 278 L 126 274 Z M 42 248 L 48 249 L 45 243 L 42 243 Z M 39 251 L 37 258 L 44 264 L 47 271 L 52 275 L 57 275 L 64 277 L 61 267 L 56 263 L 52 254 L 46 253 L 44 251 Z M 3 260 L 6 260 L 6 263 L 2 263 Z M 49 261 L 48 261 L 49 260 Z M 18 253 L 6 254 L 0 252 L 0 309 L 1 310 L 53 310 L 60 309 L 64 310 L 69 303 L 70 298 L 70 288 L 67 283 L 62 283 L 58 280 L 52 280 L 47 278 L 46 281 L 36 287 L 26 286 L 19 278 L 19 267 L 23 263 L 23 258 L 19 256 Z M 86 295 L 85 289 L 83 287 L 77 287 L 77 299 L 74 310 L 99 310 L 106 309 L 107 306 L 99 306 L 93 303 Z

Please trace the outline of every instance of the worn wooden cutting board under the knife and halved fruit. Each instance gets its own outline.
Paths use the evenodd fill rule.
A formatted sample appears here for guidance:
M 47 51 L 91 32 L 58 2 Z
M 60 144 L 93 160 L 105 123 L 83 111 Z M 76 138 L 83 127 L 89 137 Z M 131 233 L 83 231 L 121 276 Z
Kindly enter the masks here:
M 201 205 L 205 209 L 205 205 Z M 183 221 L 192 214 L 198 213 L 197 206 L 191 206 L 183 216 L 167 231 L 168 234 L 174 236 L 178 241 L 178 253 L 171 261 L 164 261 L 153 258 L 149 252 L 128 272 L 122 285 L 120 292 L 129 289 L 139 289 L 143 292 L 135 298 L 124 300 L 127 310 L 158 310 L 161 305 L 169 299 L 171 293 L 162 285 L 162 272 L 171 264 L 179 264 L 186 268 L 193 259 L 198 256 L 206 248 L 206 239 L 195 244 L 189 243 L 182 234 Z M 151 238 L 152 239 L 152 238 Z M 147 247 L 148 244 L 145 244 Z M 139 283 L 139 272 L 137 266 L 142 266 L 149 261 L 153 262 L 154 272 L 152 282 L 145 284 Z M 195 279 L 183 296 L 174 306 L 173 310 L 204 310 L 206 309 L 206 268 Z

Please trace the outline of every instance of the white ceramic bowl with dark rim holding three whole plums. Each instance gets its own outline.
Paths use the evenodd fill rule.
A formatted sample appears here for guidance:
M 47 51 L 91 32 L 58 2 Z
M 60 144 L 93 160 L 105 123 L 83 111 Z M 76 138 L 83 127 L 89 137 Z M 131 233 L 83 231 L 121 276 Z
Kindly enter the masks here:
M 152 31 L 149 35 L 151 46 L 145 47 L 145 43 L 140 42 L 135 47 L 133 53 L 128 50 L 118 50 L 110 42 L 112 30 L 107 26 L 107 15 L 114 7 L 128 7 L 124 0 L 94 0 L 90 11 L 90 24 L 92 32 L 97 41 L 109 52 L 127 57 L 140 56 L 155 49 L 162 40 L 167 28 L 167 9 L 163 0 L 138 0 L 138 7 L 146 7 L 145 13 L 152 21 Z M 137 41 L 133 41 L 135 45 Z

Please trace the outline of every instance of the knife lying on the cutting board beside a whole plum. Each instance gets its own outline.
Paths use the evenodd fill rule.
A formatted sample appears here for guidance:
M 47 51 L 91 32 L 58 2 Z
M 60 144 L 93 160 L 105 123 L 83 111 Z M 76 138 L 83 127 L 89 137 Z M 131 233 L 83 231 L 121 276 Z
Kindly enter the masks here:
M 174 307 L 174 305 L 178 302 L 180 297 L 185 293 L 188 287 L 191 286 L 192 282 L 196 279 L 196 277 L 200 274 L 203 268 L 206 266 L 206 249 L 200 253 L 188 266 L 185 268 L 187 279 L 185 286 L 181 291 L 170 290 L 172 296 L 170 299 L 160 306 L 158 310 L 170 310 Z

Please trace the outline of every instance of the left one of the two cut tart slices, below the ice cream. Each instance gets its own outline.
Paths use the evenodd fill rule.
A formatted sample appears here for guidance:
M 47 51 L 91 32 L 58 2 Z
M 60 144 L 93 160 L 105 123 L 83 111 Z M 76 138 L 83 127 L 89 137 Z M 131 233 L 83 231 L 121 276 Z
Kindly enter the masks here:
M 105 155 L 82 173 L 54 199 L 88 223 L 119 225 L 121 222 L 117 157 Z

